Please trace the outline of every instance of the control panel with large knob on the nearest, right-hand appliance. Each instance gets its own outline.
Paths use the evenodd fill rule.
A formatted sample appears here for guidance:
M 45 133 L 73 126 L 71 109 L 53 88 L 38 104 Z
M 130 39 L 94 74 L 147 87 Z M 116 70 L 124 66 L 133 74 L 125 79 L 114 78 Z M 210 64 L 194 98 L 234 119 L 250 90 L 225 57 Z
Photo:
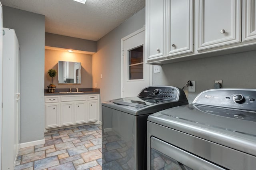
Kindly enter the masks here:
M 212 89 L 200 93 L 193 105 L 256 111 L 256 89 Z

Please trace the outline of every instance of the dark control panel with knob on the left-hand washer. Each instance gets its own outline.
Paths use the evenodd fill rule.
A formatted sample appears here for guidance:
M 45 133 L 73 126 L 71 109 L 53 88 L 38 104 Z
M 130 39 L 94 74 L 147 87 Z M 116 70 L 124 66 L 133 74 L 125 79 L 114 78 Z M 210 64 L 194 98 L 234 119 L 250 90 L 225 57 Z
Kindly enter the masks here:
M 172 86 L 150 86 L 143 89 L 138 97 L 148 97 L 153 99 L 178 100 L 180 91 L 184 91 Z

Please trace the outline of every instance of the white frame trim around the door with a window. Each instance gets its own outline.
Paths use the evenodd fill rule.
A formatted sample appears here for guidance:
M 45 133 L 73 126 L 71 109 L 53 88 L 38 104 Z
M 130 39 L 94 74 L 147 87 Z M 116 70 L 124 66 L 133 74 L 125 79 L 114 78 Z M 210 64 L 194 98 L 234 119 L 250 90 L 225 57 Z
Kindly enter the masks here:
M 129 34 L 128 36 L 125 36 L 124 38 L 121 39 L 121 98 L 123 97 L 123 86 L 124 86 L 124 41 L 139 34 L 140 32 L 143 32 L 145 31 L 145 26 L 143 26 L 142 28 L 140 28 L 139 30 Z M 146 36 L 145 36 L 146 37 Z M 146 64 L 146 56 L 147 56 L 147 50 L 146 50 L 146 47 L 145 47 L 145 43 L 143 44 L 144 45 L 144 59 L 143 59 L 143 65 Z M 149 65 L 149 85 L 151 86 L 152 85 L 152 65 L 150 64 Z

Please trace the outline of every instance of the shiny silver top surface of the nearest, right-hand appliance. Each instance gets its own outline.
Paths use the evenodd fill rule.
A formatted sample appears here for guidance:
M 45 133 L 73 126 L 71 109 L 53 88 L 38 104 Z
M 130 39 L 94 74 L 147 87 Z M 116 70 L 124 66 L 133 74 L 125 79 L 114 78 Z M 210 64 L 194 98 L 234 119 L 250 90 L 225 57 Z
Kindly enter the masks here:
M 256 156 L 256 122 L 205 113 L 197 107 L 166 109 L 150 115 L 148 121 Z

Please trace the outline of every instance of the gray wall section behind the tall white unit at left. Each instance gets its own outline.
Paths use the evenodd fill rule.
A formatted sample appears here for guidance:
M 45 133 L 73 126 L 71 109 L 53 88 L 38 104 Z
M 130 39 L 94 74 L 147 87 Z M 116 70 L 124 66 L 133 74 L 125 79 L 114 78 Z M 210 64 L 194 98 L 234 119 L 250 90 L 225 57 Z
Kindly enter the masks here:
M 44 139 L 44 16 L 3 6 L 20 43 L 20 143 Z M 3 89 L 4 90 L 4 89 Z

